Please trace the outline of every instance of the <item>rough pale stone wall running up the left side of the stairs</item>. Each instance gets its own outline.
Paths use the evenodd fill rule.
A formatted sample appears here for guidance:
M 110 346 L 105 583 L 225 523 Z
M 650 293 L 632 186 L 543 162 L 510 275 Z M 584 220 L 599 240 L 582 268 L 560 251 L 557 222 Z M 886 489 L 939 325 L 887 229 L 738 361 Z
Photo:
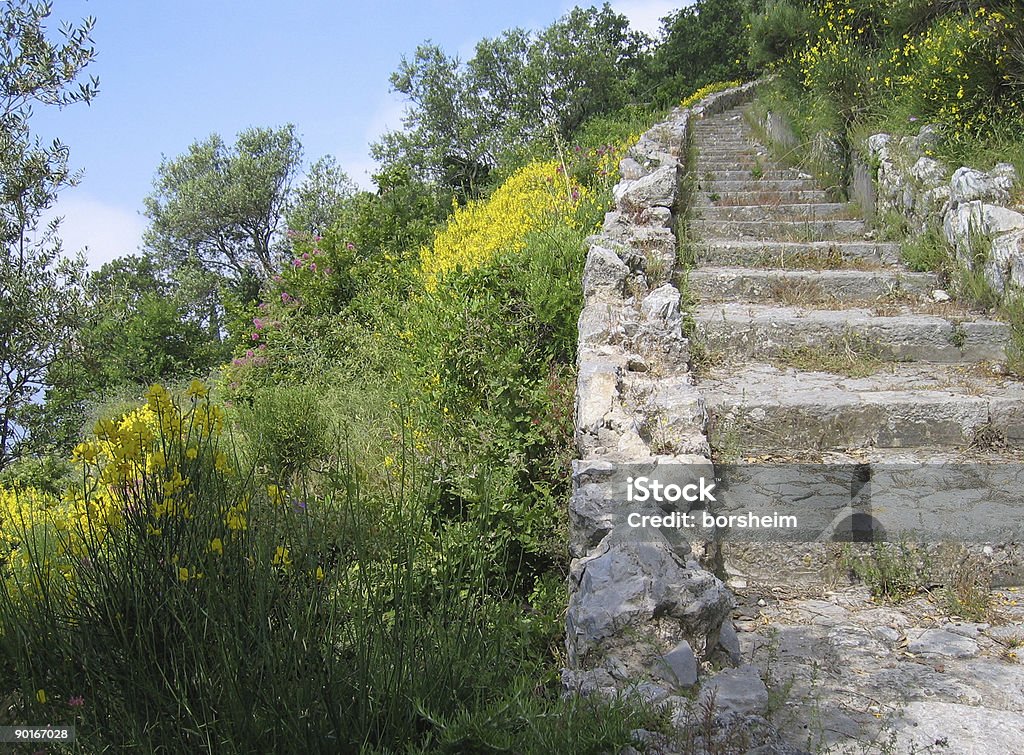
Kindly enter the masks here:
M 739 662 L 733 597 L 699 563 L 699 546 L 612 527 L 623 465 L 711 465 L 707 412 L 689 374 L 677 262 L 690 126 L 753 96 L 761 82 L 675 109 L 623 159 L 614 208 L 588 239 L 579 321 L 580 458 L 569 501 L 568 693 L 639 691 L 660 702 L 698 682 L 713 656 Z

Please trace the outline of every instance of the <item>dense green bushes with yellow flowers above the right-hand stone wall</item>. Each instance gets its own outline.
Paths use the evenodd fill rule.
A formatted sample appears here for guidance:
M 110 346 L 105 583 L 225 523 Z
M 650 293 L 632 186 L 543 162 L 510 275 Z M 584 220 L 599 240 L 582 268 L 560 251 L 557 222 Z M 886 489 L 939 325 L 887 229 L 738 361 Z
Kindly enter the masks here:
M 805 138 L 927 122 L 949 162 L 1024 165 L 1022 23 L 1017 3 L 774 0 L 753 18 L 751 59 L 780 74 L 774 96 Z

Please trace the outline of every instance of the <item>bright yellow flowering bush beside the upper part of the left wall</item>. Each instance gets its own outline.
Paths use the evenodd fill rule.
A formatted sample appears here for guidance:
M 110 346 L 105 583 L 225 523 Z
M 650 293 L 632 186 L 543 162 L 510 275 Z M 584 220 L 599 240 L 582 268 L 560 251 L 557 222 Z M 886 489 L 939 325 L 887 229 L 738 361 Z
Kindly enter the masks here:
M 553 222 L 573 223 L 587 188 L 556 161 L 532 162 L 484 200 L 455 207 L 433 243 L 420 250 L 420 276 L 428 291 L 456 269 L 472 270 L 499 251 L 525 247 L 526 235 Z

